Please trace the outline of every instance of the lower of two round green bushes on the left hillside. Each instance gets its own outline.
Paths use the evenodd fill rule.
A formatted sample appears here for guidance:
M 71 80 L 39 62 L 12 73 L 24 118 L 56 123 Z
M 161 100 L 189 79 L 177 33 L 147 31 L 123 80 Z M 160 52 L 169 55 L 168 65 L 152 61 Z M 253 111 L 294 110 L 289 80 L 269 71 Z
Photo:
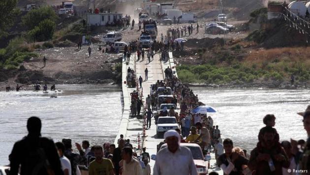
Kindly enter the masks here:
M 35 41 L 46 41 L 53 37 L 56 29 L 56 24 L 50 19 L 45 19 L 39 23 L 34 29 L 32 29 L 28 35 Z

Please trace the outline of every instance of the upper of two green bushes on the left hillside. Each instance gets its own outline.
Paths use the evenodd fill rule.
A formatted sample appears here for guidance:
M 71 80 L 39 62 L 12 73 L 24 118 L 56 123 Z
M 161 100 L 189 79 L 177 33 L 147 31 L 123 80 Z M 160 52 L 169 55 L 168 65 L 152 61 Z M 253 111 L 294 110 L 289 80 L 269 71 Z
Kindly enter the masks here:
M 52 7 L 43 6 L 33 9 L 22 18 L 23 25 L 30 30 L 34 29 L 40 22 L 49 19 L 54 23 L 58 20 L 58 16 Z

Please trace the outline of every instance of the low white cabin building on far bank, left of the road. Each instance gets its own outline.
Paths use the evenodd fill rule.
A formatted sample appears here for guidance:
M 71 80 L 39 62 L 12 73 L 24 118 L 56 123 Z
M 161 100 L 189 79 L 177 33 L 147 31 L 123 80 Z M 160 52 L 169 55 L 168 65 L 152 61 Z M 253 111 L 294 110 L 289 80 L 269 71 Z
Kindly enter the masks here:
M 122 13 L 88 13 L 88 26 L 105 26 L 107 23 L 122 20 Z

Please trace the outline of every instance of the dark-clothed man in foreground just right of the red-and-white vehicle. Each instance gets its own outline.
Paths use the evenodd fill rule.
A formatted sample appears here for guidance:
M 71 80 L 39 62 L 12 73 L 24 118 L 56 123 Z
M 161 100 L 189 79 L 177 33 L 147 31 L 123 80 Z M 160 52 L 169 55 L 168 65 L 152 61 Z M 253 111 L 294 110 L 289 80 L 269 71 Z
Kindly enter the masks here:
M 233 152 L 233 142 L 230 139 L 223 141 L 225 153 L 217 158 L 217 166 L 220 167 L 224 175 L 243 175 L 242 171 L 248 166 L 248 159 Z

